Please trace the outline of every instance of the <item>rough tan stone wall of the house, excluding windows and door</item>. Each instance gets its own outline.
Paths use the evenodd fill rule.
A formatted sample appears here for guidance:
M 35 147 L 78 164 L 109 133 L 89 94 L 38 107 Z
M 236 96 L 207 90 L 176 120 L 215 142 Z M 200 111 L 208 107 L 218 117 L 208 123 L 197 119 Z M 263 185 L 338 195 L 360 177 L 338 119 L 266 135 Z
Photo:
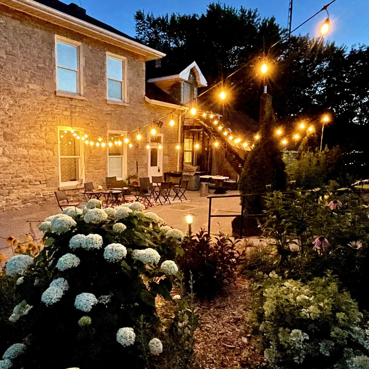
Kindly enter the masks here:
M 56 96 L 55 34 L 81 42 L 85 100 Z M 89 136 L 131 131 L 171 109 L 145 101 L 145 62 L 138 54 L 100 42 L 0 5 L 0 209 L 55 201 L 59 187 L 58 126 Z M 106 99 L 106 52 L 127 58 L 129 106 Z M 176 170 L 177 127 L 161 119 L 164 170 Z M 142 141 L 152 127 L 141 130 Z M 135 134 L 129 138 L 135 139 Z M 165 142 L 168 142 L 166 145 Z M 169 143 L 170 142 L 170 143 Z M 128 148 L 127 172 L 148 175 L 148 151 Z M 107 176 L 107 148 L 83 145 L 85 181 L 97 186 Z

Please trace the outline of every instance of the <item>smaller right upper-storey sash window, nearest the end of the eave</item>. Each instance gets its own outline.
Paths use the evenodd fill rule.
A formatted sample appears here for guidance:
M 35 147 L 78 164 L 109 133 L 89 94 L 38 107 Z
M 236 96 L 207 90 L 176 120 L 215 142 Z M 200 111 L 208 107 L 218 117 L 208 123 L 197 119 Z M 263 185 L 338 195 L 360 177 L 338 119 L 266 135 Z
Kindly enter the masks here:
M 126 59 L 107 53 L 107 98 L 127 102 Z

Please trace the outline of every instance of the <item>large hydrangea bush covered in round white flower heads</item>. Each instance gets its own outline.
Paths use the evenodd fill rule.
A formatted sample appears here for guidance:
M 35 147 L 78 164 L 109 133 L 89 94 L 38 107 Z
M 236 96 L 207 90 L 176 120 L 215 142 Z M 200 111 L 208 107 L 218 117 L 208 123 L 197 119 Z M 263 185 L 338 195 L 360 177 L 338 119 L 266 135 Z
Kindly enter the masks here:
M 14 256 L 5 268 L 13 312 L 1 366 L 105 369 L 124 358 L 141 369 L 160 357 L 155 297 L 172 299 L 183 236 L 166 237 L 163 220 L 142 210 L 140 203 L 102 209 L 93 199 L 40 224 L 44 249 L 35 259 Z

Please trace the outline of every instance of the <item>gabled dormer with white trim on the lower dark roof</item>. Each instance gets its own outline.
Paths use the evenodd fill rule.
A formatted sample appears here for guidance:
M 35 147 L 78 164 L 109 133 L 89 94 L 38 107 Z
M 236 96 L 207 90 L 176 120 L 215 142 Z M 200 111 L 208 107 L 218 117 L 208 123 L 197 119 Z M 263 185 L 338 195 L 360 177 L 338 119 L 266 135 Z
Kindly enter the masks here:
M 190 101 L 197 97 L 197 89 L 206 87 L 207 82 L 196 62 L 192 62 L 179 73 L 169 70 L 159 63 L 151 70 L 151 78 L 147 82 L 154 83 L 181 104 L 190 105 Z

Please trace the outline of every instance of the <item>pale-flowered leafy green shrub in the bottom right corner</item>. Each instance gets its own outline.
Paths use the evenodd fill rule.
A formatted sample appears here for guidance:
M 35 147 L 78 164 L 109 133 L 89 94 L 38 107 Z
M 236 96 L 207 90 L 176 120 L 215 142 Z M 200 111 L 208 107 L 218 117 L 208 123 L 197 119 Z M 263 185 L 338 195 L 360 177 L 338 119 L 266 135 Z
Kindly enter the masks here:
M 308 284 L 281 280 L 263 290 L 260 331 L 264 355 L 273 368 L 352 368 L 368 352 L 368 330 L 349 293 L 332 277 Z

